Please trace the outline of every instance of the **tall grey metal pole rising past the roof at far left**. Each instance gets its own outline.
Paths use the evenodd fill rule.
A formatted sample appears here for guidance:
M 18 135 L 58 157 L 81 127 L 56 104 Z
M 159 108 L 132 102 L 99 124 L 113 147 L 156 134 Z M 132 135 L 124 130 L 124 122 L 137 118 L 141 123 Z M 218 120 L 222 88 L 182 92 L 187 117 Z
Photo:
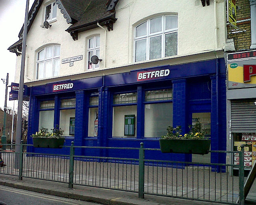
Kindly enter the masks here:
M 21 68 L 20 68 L 20 85 L 19 85 L 19 98 L 18 98 L 18 115 L 16 126 L 16 143 L 20 143 L 22 133 L 22 101 L 23 101 L 23 88 L 24 88 L 24 69 L 25 69 L 25 54 L 26 54 L 26 41 L 28 33 L 28 5 L 26 3 L 25 22 L 23 25 L 23 39 L 22 39 L 22 54 L 21 54 Z M 19 151 L 19 146 L 15 146 L 15 151 Z

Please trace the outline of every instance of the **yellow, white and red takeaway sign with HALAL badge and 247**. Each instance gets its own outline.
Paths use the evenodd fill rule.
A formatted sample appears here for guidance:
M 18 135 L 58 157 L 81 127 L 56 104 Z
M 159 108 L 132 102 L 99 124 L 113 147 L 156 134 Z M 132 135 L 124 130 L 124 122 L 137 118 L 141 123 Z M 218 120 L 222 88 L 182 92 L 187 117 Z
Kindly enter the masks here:
M 228 89 L 256 87 L 256 51 L 228 54 Z

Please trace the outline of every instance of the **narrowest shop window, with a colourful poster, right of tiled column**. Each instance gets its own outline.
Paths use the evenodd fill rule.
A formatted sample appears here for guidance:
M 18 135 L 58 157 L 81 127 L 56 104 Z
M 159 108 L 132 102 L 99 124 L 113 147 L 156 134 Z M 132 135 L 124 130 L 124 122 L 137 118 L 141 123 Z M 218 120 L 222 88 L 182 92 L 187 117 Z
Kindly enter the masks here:
M 89 98 L 88 137 L 98 136 L 98 96 Z

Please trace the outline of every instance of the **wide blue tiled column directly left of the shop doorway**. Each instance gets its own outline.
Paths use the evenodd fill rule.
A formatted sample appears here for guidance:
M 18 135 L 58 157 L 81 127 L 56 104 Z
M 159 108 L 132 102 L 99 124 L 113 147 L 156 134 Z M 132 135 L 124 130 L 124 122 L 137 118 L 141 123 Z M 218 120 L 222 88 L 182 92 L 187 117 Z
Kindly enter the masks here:
M 173 80 L 173 127 L 181 126 L 182 134 L 187 131 L 186 79 Z M 189 155 L 172 154 L 172 160 L 189 161 Z

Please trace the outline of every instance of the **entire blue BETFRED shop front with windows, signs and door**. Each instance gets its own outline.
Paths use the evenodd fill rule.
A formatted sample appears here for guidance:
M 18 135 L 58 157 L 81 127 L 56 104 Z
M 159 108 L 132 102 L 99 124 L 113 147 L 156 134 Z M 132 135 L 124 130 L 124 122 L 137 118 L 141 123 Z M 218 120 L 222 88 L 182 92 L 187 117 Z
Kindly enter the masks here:
M 224 59 L 165 65 L 130 72 L 61 81 L 31 87 L 29 134 L 41 127 L 64 129 L 65 144 L 75 146 L 159 148 L 168 126 L 182 127 L 200 118 L 211 150 L 226 148 L 226 91 Z M 28 137 L 28 144 L 32 138 Z M 68 148 L 41 153 L 69 152 Z M 76 155 L 137 156 L 137 150 L 77 148 Z M 185 155 L 150 152 L 151 159 L 225 163 L 223 154 Z

